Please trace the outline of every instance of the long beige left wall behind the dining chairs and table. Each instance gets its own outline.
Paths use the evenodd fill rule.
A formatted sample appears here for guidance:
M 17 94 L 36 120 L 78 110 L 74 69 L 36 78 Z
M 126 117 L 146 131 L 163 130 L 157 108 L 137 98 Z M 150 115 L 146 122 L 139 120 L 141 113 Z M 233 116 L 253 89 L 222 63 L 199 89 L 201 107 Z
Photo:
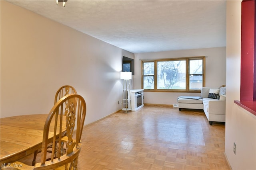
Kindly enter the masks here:
M 85 124 L 118 111 L 122 53 L 128 52 L 1 1 L 1 117 L 48 113 L 66 84 L 86 100 Z

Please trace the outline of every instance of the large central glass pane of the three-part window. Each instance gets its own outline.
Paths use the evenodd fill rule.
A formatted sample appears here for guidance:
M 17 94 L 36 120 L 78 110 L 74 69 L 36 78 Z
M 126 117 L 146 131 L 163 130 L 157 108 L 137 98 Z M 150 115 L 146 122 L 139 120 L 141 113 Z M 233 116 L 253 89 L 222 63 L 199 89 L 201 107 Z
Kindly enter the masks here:
M 157 89 L 186 89 L 186 61 L 158 61 Z

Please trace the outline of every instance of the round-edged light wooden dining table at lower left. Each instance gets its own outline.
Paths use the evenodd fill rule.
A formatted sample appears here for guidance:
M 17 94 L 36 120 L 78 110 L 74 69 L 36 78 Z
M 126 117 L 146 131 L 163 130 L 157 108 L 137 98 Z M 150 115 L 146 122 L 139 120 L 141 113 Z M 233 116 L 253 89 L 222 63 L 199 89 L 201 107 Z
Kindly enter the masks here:
M 20 115 L 0 119 L 1 164 L 12 163 L 42 148 L 47 116 L 48 114 Z

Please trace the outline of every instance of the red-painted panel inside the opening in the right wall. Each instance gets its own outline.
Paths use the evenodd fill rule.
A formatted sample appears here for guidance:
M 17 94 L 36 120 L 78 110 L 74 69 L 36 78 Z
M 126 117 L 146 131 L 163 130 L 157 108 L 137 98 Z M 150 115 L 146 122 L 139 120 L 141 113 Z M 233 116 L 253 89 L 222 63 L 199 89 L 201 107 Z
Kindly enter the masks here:
M 256 101 L 255 23 L 255 1 L 242 1 L 241 101 Z

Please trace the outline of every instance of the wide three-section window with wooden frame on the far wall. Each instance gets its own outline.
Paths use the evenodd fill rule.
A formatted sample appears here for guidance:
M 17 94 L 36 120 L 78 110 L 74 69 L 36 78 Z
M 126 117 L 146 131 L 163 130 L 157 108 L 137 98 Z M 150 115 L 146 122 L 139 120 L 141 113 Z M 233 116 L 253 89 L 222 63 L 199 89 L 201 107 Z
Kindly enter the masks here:
M 200 91 L 205 84 L 205 57 L 142 61 L 142 88 L 149 91 Z

